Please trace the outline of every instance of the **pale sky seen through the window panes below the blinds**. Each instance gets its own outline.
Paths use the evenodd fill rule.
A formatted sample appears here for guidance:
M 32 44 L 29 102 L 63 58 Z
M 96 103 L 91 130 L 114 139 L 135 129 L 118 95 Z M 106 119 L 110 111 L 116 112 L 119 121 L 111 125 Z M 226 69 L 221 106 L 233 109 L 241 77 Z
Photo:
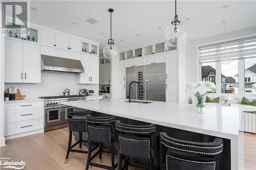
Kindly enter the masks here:
M 256 63 L 256 58 L 245 59 L 245 69 Z M 210 65 L 213 68 L 216 68 L 216 63 L 202 63 L 202 65 Z M 226 77 L 234 77 L 234 75 L 238 74 L 238 60 L 234 60 L 229 64 L 221 64 L 221 73 Z

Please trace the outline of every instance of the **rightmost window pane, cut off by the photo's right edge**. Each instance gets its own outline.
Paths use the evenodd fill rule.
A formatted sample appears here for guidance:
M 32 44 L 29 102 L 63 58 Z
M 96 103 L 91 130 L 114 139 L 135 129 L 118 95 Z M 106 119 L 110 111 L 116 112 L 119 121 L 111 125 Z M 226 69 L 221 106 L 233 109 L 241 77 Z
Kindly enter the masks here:
M 256 94 L 256 58 L 244 60 L 244 90 L 246 94 Z

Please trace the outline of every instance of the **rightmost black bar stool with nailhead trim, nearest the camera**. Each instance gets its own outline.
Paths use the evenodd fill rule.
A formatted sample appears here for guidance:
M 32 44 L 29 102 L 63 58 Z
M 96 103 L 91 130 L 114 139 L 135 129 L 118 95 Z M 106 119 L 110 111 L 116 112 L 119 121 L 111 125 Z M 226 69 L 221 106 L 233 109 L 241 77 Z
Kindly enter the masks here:
M 161 169 L 220 170 L 223 139 L 212 142 L 193 142 L 174 139 L 160 133 Z

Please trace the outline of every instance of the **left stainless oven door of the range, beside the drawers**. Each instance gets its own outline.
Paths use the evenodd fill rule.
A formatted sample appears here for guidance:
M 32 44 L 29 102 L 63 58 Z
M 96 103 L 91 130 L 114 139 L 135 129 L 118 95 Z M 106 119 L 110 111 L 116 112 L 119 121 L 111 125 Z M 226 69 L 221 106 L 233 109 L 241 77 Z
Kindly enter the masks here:
M 45 127 L 58 125 L 61 123 L 62 106 L 45 109 Z

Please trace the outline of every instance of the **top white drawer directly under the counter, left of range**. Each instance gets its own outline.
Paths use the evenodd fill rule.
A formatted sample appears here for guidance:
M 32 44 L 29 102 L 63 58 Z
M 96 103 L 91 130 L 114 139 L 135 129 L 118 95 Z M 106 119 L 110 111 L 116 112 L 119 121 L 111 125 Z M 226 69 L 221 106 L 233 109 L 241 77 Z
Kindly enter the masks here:
M 21 109 L 43 108 L 43 107 L 44 107 L 44 101 L 10 103 L 10 104 L 7 105 L 7 111 L 21 110 Z

